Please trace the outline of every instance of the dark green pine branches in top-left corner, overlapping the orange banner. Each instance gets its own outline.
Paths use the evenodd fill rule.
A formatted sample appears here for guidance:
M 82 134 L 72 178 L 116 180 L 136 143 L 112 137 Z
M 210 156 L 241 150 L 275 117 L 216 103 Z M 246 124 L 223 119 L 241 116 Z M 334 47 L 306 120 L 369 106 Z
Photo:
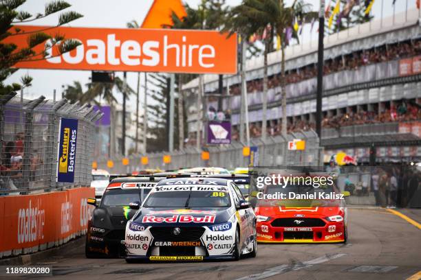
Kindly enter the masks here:
M 52 36 L 46 34 L 46 30 L 41 28 L 36 32 L 24 32 L 19 27 L 19 23 L 29 23 L 65 10 L 70 7 L 69 3 L 61 0 L 52 1 L 45 5 L 43 13 L 32 15 L 29 12 L 18 11 L 19 7 L 25 2 L 25 0 L 0 1 L 0 95 L 8 94 L 11 91 L 18 91 L 22 86 L 30 86 L 32 78 L 28 75 L 21 78 L 21 84 L 4 84 L 4 80 L 17 71 L 17 68 L 13 68 L 13 66 L 18 62 L 44 59 L 47 56 L 47 50 L 52 49 L 54 46 L 58 47 L 59 54 L 64 54 L 80 45 L 76 40 L 65 39 L 62 34 L 57 33 Z M 77 12 L 62 12 L 58 17 L 56 27 L 79 19 L 80 17 L 82 15 Z M 14 43 L 4 42 L 6 38 L 17 35 L 27 35 L 28 45 L 18 47 Z M 50 40 L 50 43 L 45 46 L 43 51 L 36 52 L 34 48 L 45 43 L 46 40 Z M 39 58 L 40 56 L 41 58 Z

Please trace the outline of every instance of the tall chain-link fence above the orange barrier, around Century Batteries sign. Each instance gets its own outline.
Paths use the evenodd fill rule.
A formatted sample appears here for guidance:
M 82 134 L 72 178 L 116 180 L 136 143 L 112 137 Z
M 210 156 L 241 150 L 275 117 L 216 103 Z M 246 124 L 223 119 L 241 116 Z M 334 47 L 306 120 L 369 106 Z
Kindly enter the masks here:
M 89 185 L 94 123 L 102 113 L 65 99 L 15 95 L 0 96 L 0 195 Z M 56 183 L 61 117 L 78 119 L 74 183 Z

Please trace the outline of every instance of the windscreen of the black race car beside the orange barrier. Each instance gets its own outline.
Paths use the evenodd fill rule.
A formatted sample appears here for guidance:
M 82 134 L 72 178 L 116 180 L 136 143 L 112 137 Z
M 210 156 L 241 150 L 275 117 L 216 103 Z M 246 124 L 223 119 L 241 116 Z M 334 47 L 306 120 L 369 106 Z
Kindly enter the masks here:
M 151 191 L 150 188 L 108 189 L 101 199 L 101 206 L 127 206 L 130 202 L 142 202 Z

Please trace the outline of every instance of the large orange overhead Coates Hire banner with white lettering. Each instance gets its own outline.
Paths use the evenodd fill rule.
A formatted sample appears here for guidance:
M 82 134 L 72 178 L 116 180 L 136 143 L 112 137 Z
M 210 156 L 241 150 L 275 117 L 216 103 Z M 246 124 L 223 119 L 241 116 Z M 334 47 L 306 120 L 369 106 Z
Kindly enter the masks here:
M 22 32 L 36 30 L 54 37 L 79 40 L 82 45 L 61 56 L 50 42 L 47 59 L 19 62 L 14 67 L 98 71 L 141 71 L 172 73 L 237 73 L 237 36 L 210 30 L 108 29 L 19 25 Z M 27 47 L 27 35 L 9 36 L 5 43 Z

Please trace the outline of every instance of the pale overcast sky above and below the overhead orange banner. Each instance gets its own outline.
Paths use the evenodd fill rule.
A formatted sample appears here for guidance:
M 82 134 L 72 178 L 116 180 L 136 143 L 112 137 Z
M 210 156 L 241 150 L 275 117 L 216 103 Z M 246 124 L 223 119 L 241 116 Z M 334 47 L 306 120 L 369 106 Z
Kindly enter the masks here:
M 328 5 L 330 1 L 332 0 L 325 0 L 325 5 Z M 380 16 L 382 5 L 383 15 L 390 16 L 393 13 L 392 1 L 393 0 L 375 0 L 372 8 L 374 16 Z M 19 10 L 25 10 L 31 14 L 36 14 L 36 12 L 43 12 L 45 3 L 48 2 L 50 1 L 27 0 L 26 3 L 21 5 Z M 153 0 L 67 0 L 67 2 L 72 5 L 72 7 L 67 8 L 67 10 L 79 12 L 80 14 L 83 14 L 83 18 L 72 21 L 65 26 L 125 28 L 126 23 L 132 20 L 142 23 Z M 292 2 L 292 0 L 286 1 L 287 4 L 289 2 Z M 311 3 L 313 10 L 319 10 L 319 0 L 307 0 L 305 2 Z M 184 3 L 187 3 L 192 7 L 197 7 L 200 0 L 184 0 Z M 226 3 L 228 5 L 238 5 L 241 3 L 241 0 L 226 0 Z M 395 12 L 404 11 L 407 5 L 409 8 L 414 8 L 415 0 L 396 0 Z M 45 19 L 34 21 L 31 25 L 55 25 L 57 23 L 58 14 L 52 14 Z M 316 28 L 313 29 L 313 32 L 315 31 Z M 305 32 L 310 35 L 310 26 L 304 28 L 304 33 Z M 311 36 L 303 36 L 303 38 L 303 43 L 308 43 L 310 38 L 316 40 L 317 36 L 316 34 L 312 34 Z M 305 40 L 307 40 L 307 42 Z M 34 78 L 32 86 L 25 89 L 23 93 L 24 97 L 28 99 L 33 99 L 40 95 L 44 95 L 47 99 L 52 99 L 54 89 L 56 89 L 57 99 L 59 99 L 63 91 L 63 85 L 72 84 L 74 81 L 79 81 L 83 85 L 87 84 L 91 75 L 90 71 L 19 69 L 19 71 L 6 80 L 6 84 L 19 82 L 21 76 L 27 73 Z M 122 73 L 116 72 L 116 75 L 122 78 Z M 137 73 L 127 73 L 127 82 L 132 89 L 136 89 L 137 77 Z M 118 100 L 121 100 L 120 96 L 116 97 Z M 134 106 L 133 102 L 129 102 L 129 104 L 129 106 Z

